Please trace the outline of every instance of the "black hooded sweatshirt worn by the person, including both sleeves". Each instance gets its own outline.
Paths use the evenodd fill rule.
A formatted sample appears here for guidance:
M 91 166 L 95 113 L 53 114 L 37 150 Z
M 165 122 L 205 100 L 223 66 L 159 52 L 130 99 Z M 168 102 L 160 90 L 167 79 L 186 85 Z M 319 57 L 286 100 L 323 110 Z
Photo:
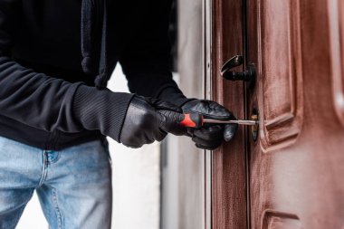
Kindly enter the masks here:
M 59 150 L 119 141 L 133 94 L 185 97 L 168 68 L 168 0 L 0 0 L 0 136 Z

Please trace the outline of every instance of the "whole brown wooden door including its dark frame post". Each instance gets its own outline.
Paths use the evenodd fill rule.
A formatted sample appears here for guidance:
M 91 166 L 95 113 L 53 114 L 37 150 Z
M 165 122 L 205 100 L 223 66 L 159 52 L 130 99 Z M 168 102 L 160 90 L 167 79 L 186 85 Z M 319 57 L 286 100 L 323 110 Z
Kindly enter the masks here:
M 213 154 L 213 227 L 344 228 L 343 1 L 214 0 L 212 12 L 214 99 L 260 121 L 255 141 L 240 127 Z M 253 87 L 219 77 L 235 54 L 256 67 Z

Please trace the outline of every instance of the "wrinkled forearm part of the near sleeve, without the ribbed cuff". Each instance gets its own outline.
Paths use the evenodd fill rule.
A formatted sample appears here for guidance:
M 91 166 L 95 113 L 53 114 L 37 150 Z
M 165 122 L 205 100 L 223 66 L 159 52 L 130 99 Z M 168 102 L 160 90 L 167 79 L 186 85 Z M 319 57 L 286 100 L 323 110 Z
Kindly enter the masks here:
M 46 131 L 80 130 L 72 114 L 72 100 L 79 85 L 34 72 L 0 56 L 0 114 L 28 126 Z

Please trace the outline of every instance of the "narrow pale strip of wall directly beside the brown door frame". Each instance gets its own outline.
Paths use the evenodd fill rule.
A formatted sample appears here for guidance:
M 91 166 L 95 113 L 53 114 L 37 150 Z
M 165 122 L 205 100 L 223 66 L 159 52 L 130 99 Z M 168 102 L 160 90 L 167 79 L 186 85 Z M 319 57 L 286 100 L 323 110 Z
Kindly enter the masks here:
M 204 97 L 202 0 L 178 1 L 178 71 L 187 97 Z M 189 138 L 178 144 L 180 229 L 205 225 L 205 154 Z

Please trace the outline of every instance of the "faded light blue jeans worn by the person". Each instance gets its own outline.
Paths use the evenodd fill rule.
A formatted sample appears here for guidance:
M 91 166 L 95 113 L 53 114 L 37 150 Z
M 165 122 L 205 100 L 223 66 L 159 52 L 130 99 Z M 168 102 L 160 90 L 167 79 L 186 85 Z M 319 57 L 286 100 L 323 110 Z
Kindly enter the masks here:
M 0 137 L 0 228 L 18 223 L 36 190 L 51 228 L 110 228 L 107 143 L 46 151 Z

